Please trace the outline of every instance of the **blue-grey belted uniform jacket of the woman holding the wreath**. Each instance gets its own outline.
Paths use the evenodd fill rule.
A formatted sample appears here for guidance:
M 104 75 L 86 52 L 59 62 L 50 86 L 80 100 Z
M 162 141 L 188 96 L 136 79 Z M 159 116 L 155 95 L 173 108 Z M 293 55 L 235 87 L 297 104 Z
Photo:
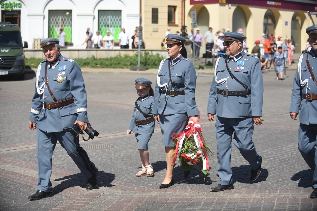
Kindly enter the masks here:
M 170 82 L 168 72 L 168 61 L 171 61 L 171 79 L 174 83 L 185 85 L 185 88 L 174 86 Z M 154 106 L 152 113 L 154 115 L 163 114 L 181 114 L 187 113 L 188 116 L 198 115 L 198 109 L 195 101 L 196 89 L 196 70 L 193 63 L 180 55 L 172 61 L 166 59 L 158 73 L 160 84 L 168 82 L 167 90 L 184 90 L 185 95 L 169 96 L 166 95 L 164 87 L 159 87 L 156 83 L 154 93 Z M 164 90 L 162 90 L 164 89 Z

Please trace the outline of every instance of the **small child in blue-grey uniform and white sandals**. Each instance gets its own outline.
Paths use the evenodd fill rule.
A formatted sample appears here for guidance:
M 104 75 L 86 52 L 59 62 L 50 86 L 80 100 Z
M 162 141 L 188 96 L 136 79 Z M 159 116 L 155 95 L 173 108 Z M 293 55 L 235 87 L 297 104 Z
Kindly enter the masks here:
M 152 82 L 145 78 L 135 79 L 135 88 L 139 98 L 134 103 L 134 111 L 127 134 L 135 133 L 141 158 L 142 169 L 135 176 L 154 176 L 153 167 L 149 161 L 147 143 L 154 133 L 154 118 L 152 114 L 154 92 Z

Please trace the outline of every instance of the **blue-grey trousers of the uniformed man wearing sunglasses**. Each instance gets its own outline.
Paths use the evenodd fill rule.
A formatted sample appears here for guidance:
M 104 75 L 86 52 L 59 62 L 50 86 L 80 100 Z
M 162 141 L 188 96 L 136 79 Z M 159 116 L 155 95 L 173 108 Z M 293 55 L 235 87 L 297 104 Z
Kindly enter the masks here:
M 256 170 L 260 165 L 260 157 L 256 153 L 252 139 L 253 119 L 247 118 L 223 118 L 217 116 L 216 120 L 216 137 L 217 137 L 217 172 L 220 177 L 219 184 L 230 185 L 232 181 L 231 138 L 233 132 L 233 144 L 239 149 L 241 155 L 249 162 L 251 168 Z

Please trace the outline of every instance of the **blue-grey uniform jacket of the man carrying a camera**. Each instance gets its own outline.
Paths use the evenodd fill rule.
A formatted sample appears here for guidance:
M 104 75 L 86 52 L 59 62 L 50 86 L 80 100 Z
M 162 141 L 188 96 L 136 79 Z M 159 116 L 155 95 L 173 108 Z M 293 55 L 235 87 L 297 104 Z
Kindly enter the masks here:
M 39 80 L 36 82 L 39 86 L 45 84 L 45 64 L 46 60 L 42 61 L 37 69 L 37 72 L 40 71 Z M 61 75 L 63 78 L 61 83 L 57 81 L 59 72 L 64 73 Z M 36 122 L 38 129 L 48 133 L 67 130 L 73 127 L 76 120 L 88 122 L 87 93 L 78 64 L 73 59 L 65 58 L 60 54 L 54 65 L 48 63 L 47 78 L 50 90 L 58 101 L 74 97 L 74 102 L 62 108 L 43 109 L 43 103 L 54 103 L 54 100 L 46 84 L 43 87 L 44 99 L 42 94 L 38 94 L 35 86 L 29 121 Z

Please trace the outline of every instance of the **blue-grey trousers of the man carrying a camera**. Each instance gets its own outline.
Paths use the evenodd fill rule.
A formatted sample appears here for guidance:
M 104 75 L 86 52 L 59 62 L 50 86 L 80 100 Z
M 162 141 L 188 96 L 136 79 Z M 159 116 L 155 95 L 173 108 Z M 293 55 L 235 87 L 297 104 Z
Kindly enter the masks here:
M 90 161 L 87 152 L 79 145 L 79 137 L 74 138 L 69 131 L 47 133 L 36 129 L 38 190 L 52 191 L 52 183 L 50 181 L 52 156 L 57 140 L 87 179 L 96 172 L 94 163 Z

